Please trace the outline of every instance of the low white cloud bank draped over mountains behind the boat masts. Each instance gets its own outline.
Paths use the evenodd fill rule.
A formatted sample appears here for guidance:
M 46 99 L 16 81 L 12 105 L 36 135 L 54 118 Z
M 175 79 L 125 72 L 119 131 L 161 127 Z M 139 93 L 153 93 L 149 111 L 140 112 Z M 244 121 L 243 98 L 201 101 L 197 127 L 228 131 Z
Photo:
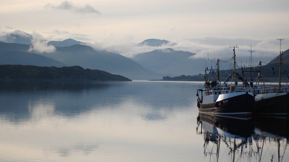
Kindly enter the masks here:
M 289 48 L 289 37 L 284 37 L 282 42 L 282 50 L 287 50 Z M 129 58 L 133 58 L 134 55 L 138 53 L 150 52 L 156 49 L 166 49 L 173 48 L 174 50 L 183 50 L 196 53 L 196 55 L 188 59 L 203 58 L 213 59 L 214 52 L 215 58 L 221 60 L 228 60 L 232 58 L 233 51 L 229 47 L 238 45 L 239 49 L 236 49 L 237 63 L 241 66 L 242 64 L 248 65 L 252 44 L 252 50 L 256 52 L 253 53 L 254 65 L 257 65 L 260 60 L 263 62 L 269 62 L 279 54 L 280 42 L 277 38 L 266 38 L 266 39 L 253 39 L 245 37 L 197 37 L 192 39 L 176 39 L 168 40 L 171 42 L 176 42 L 177 45 L 168 46 L 163 45 L 159 47 L 151 46 L 138 46 L 137 43 L 131 43 L 132 36 L 123 36 L 123 39 L 114 39 L 114 37 L 108 37 L 99 42 L 96 42 L 94 47 L 101 48 L 103 50 L 108 50 L 110 52 L 120 53 Z M 246 63 L 247 62 L 247 63 Z M 208 62 L 209 63 L 209 62 Z M 226 67 L 226 66 L 225 66 Z M 224 68 L 225 68 L 224 67 Z

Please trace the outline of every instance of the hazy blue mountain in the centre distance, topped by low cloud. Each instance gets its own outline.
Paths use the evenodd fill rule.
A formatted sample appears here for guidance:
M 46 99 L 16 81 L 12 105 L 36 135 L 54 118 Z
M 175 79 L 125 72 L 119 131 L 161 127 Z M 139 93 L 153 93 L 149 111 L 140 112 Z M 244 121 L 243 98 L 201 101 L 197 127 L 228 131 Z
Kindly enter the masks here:
M 204 59 L 189 58 L 195 53 L 166 48 L 139 53 L 132 58 L 145 68 L 170 76 L 197 74 L 203 71 Z

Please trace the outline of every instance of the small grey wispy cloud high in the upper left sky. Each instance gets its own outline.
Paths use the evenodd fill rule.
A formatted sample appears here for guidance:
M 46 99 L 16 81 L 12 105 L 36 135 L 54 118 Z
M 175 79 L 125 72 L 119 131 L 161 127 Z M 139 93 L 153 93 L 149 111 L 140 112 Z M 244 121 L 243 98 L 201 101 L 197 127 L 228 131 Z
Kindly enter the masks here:
M 74 5 L 72 2 L 69 2 L 69 1 L 62 1 L 61 4 L 59 5 L 54 5 L 54 4 L 49 3 L 49 4 L 46 4 L 44 8 L 68 10 L 71 12 L 78 12 L 78 13 L 83 13 L 83 14 L 90 14 L 90 13 L 100 14 L 100 12 L 97 9 L 95 9 L 89 4 L 86 4 L 84 6 L 78 6 L 78 5 Z

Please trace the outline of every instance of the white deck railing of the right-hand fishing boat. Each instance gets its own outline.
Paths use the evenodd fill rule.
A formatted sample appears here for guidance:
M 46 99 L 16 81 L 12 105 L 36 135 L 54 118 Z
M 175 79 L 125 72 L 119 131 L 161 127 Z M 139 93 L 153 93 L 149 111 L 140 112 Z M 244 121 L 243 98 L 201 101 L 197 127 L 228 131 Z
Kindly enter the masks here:
M 288 85 L 282 86 L 262 86 L 262 87 L 253 87 L 251 91 L 253 94 L 265 94 L 265 93 L 288 93 Z

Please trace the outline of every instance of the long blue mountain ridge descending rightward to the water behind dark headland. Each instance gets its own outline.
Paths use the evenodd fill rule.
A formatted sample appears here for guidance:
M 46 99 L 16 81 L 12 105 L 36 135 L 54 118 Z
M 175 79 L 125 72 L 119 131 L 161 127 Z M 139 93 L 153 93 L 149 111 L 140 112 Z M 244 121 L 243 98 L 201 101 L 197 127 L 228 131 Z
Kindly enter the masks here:
M 7 53 L 12 53 L 11 51 L 25 52 L 24 54 L 28 55 L 27 51 L 29 49 L 30 45 L 26 44 L 0 42 L 0 52 L 6 52 L 6 55 Z M 109 73 L 126 76 L 132 79 L 146 80 L 150 78 L 158 79 L 162 77 L 162 74 L 150 71 L 134 60 L 126 58 L 118 53 L 111 53 L 105 50 L 94 49 L 87 45 L 76 44 L 69 47 L 56 47 L 56 51 L 53 53 L 36 54 L 57 60 L 67 66 L 81 66 L 83 68 L 99 69 Z M 19 63 L 17 60 L 13 62 L 12 57 L 10 58 L 10 62 L 9 60 L 6 60 L 6 62 L 8 61 L 11 64 Z M 51 64 L 50 66 L 53 65 L 54 64 Z

